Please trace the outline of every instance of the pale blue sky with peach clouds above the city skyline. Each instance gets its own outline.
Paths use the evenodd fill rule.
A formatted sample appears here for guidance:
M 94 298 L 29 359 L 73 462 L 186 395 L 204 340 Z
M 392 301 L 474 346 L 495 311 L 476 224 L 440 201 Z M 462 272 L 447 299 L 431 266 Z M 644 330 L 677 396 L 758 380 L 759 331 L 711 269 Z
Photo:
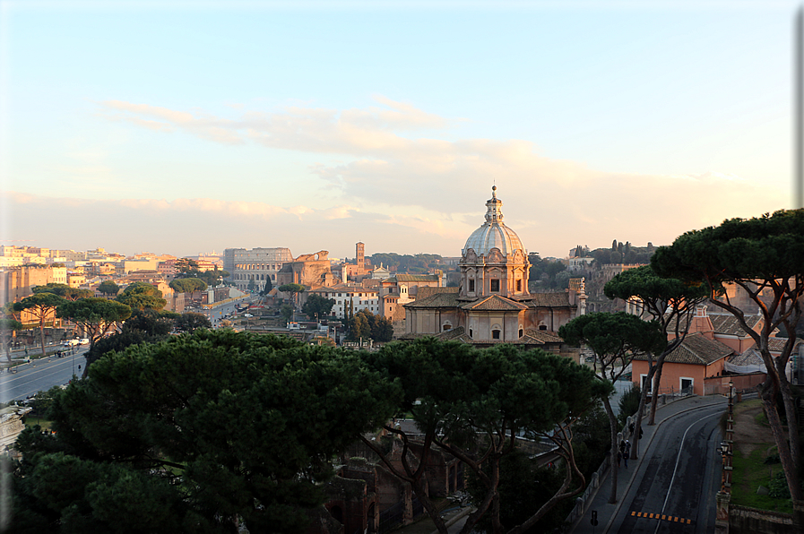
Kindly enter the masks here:
M 0 0 L 0 243 L 458 256 L 496 185 L 564 257 L 790 209 L 799 6 Z

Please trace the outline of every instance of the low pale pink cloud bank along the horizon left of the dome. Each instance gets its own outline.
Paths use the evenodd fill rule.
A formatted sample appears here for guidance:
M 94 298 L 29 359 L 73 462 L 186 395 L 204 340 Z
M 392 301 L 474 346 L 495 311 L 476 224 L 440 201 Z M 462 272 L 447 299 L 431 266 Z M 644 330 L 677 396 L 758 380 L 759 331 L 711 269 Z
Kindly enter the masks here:
M 109 201 L 16 192 L 2 196 L 4 208 L 13 213 L 3 238 L 50 248 L 105 246 L 124 254 L 186 255 L 238 246 L 288 246 L 294 254 L 330 250 L 333 256 L 353 254 L 359 240 L 376 252 L 405 252 L 402 242 L 409 242 L 408 250 L 415 252 L 454 248 L 449 232 L 439 234 L 443 225 L 346 204 L 319 210 L 209 198 Z M 15 224 L 21 220 L 25 223 Z

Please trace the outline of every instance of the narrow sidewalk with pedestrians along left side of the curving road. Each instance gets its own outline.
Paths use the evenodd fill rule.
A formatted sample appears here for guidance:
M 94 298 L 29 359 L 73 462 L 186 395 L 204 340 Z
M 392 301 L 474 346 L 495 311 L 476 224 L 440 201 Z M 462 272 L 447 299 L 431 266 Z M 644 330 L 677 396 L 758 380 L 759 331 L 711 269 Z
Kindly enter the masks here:
M 628 488 L 631 487 L 631 483 L 634 481 L 636 473 L 642 465 L 642 461 L 644 458 L 648 457 L 648 452 L 652 451 L 653 447 L 660 446 L 659 443 L 653 443 L 653 437 L 656 435 L 656 430 L 661 426 L 661 424 L 668 418 L 671 418 L 683 411 L 687 411 L 688 409 L 699 408 L 709 404 L 717 404 L 719 402 L 724 402 L 724 397 L 721 395 L 710 395 L 706 397 L 692 396 L 685 397 L 679 401 L 674 401 L 670 404 L 665 404 L 657 408 L 656 424 L 653 426 L 647 426 L 643 422 L 642 428 L 644 430 L 644 435 L 639 442 L 639 458 L 637 460 L 629 461 L 627 469 L 619 468 L 619 476 L 617 480 L 618 502 L 615 504 L 609 504 L 611 482 L 609 480 L 610 472 L 607 472 L 601 480 L 601 484 L 598 486 L 597 491 L 592 495 L 592 502 L 587 506 L 586 512 L 584 512 L 584 515 L 580 519 L 572 524 L 567 532 L 572 532 L 573 534 L 601 534 L 606 532 L 609 528 L 609 521 L 611 521 L 614 516 L 617 515 L 619 507 L 623 504 L 623 496 L 627 494 Z M 646 420 L 647 419 L 644 419 L 644 421 Z M 596 510 L 598 512 L 598 525 L 596 527 L 592 526 L 592 510 Z

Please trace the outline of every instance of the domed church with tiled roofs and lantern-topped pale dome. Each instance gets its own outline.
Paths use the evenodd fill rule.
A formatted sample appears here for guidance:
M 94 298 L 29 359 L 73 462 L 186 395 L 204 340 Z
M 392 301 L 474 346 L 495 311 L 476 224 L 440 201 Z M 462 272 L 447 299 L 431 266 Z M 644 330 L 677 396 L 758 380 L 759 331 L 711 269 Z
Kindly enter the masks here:
M 563 293 L 528 292 L 530 263 L 522 240 L 503 222 L 497 186 L 486 220 L 461 252 L 458 288 L 419 288 L 406 304 L 403 338 L 436 335 L 480 346 L 519 343 L 558 352 L 558 328 L 586 311 L 584 279 Z

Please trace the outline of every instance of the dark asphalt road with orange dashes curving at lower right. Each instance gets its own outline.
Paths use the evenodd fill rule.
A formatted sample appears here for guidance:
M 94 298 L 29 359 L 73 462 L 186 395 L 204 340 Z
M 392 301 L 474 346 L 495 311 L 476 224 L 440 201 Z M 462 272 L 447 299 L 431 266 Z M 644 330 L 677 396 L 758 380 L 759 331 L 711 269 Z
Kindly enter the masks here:
M 714 531 L 714 496 L 722 469 L 716 449 L 724 409 L 724 404 L 692 409 L 661 426 L 609 532 Z M 620 471 L 620 476 L 627 475 Z

